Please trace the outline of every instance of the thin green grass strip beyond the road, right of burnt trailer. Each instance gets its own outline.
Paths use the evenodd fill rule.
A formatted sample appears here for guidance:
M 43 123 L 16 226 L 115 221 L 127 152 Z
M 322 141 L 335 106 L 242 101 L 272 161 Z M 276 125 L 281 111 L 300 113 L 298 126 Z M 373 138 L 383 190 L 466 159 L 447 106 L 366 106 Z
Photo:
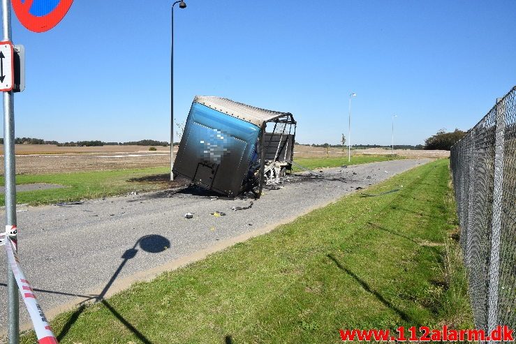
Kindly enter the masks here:
M 397 155 L 364 155 L 364 156 L 352 156 L 351 162 L 348 161 L 348 157 L 338 157 L 338 158 L 295 158 L 294 162 L 302 165 L 303 167 L 307 167 L 310 170 L 314 170 L 317 168 L 324 167 L 339 167 L 342 165 L 358 165 L 365 163 L 376 163 L 378 161 L 388 161 L 388 160 L 397 160 L 403 159 L 402 156 Z M 293 166 L 293 171 L 297 172 L 301 169 L 297 166 Z

